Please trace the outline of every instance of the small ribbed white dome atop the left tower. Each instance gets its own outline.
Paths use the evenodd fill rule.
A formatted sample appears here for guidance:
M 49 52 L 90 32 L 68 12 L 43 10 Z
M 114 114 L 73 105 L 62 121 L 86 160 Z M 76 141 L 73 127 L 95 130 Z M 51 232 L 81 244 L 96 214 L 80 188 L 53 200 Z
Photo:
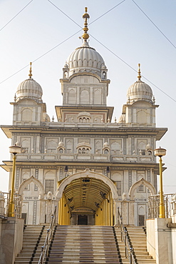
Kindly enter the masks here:
M 19 84 L 16 90 L 16 101 L 23 98 L 31 98 L 37 102 L 41 102 L 42 95 L 43 91 L 40 84 L 34 81 L 33 78 L 29 78 Z

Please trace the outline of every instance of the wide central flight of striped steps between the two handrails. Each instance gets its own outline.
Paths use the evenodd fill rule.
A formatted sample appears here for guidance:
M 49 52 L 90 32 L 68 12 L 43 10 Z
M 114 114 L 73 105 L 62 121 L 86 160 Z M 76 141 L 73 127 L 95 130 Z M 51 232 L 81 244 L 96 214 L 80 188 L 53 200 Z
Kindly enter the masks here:
M 48 263 L 121 263 L 113 228 L 93 225 L 58 225 Z

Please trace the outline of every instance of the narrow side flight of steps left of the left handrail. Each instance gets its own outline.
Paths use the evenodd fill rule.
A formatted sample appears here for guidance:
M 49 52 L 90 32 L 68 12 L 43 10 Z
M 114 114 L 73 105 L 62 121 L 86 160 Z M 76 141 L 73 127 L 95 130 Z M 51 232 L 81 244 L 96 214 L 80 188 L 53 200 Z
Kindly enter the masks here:
M 46 239 L 48 225 L 26 225 L 21 253 L 15 264 L 38 263 L 41 247 Z

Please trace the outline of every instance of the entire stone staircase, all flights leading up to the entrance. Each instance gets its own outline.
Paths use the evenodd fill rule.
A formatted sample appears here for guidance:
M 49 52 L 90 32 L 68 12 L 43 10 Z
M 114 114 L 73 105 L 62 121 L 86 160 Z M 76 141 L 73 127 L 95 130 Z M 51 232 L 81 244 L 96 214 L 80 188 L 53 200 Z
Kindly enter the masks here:
M 15 264 L 37 264 L 48 225 L 27 225 L 21 253 Z M 141 227 L 127 227 L 131 246 L 138 264 L 155 264 L 147 253 L 146 235 Z M 112 226 L 56 225 L 49 248 L 49 263 L 130 263 L 120 229 Z

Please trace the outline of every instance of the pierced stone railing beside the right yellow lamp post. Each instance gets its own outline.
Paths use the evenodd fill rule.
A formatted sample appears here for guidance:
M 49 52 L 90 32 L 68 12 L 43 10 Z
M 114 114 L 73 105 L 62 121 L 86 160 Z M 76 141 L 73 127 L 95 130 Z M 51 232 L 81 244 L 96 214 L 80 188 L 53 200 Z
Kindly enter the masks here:
M 165 205 L 165 218 L 171 218 L 172 203 L 175 193 L 163 194 Z M 160 215 L 160 195 L 149 196 L 148 198 L 148 218 L 159 218 Z

